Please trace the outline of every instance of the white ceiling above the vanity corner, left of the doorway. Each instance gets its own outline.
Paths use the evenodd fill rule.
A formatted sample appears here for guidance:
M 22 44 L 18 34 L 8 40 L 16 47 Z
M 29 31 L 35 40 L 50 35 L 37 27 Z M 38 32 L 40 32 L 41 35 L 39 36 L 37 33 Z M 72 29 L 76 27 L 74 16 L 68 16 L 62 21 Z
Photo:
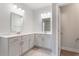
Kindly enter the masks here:
M 46 6 L 51 6 L 51 3 L 27 3 L 25 5 L 27 5 L 32 10 L 36 10 L 36 9 L 43 8 Z

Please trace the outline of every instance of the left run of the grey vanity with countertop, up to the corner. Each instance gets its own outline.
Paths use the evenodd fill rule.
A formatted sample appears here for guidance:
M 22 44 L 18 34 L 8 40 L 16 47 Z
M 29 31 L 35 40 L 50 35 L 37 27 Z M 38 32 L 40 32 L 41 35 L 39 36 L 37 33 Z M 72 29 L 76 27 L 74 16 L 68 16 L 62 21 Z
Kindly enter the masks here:
M 0 55 L 19 56 L 34 46 L 33 34 L 0 37 Z

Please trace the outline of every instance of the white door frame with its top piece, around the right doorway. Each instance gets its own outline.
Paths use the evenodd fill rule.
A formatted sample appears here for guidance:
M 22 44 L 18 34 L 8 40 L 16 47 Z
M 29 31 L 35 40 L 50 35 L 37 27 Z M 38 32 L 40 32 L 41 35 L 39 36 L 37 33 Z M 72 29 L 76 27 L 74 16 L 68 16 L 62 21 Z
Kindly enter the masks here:
M 56 35 L 58 35 L 58 56 L 60 56 L 61 55 L 61 49 L 62 49 L 62 47 L 61 47 L 61 36 L 62 36 L 62 34 L 61 34 L 61 32 L 62 32 L 62 29 L 61 29 L 61 26 L 62 26 L 62 23 L 61 23 L 61 7 L 63 7 L 63 6 L 65 6 L 65 5 L 68 5 L 68 3 L 63 3 L 63 4 L 58 4 L 57 5 L 57 14 L 58 15 L 56 15 L 57 16 L 57 20 L 58 20 L 58 27 L 56 28 L 57 30 L 58 30 L 58 33 L 56 34 Z

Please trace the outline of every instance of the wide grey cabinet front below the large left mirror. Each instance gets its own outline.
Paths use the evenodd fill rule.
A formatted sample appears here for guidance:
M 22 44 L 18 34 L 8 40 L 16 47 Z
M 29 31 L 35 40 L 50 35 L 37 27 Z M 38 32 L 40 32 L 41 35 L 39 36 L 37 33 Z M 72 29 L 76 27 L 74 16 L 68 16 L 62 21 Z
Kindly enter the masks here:
M 10 40 L 10 39 L 9 39 Z M 20 38 L 11 38 L 13 41 L 12 43 L 9 43 L 9 55 L 10 56 L 19 56 L 21 52 L 20 48 Z

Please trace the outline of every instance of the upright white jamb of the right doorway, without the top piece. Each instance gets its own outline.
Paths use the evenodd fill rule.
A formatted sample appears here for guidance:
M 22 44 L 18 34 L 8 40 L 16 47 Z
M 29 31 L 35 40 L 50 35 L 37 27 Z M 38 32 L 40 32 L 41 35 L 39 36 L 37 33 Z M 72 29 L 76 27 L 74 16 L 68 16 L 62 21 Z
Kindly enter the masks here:
M 61 54 L 61 14 L 60 14 L 60 6 L 56 8 L 56 18 L 57 18 L 57 43 L 58 43 L 58 55 Z

